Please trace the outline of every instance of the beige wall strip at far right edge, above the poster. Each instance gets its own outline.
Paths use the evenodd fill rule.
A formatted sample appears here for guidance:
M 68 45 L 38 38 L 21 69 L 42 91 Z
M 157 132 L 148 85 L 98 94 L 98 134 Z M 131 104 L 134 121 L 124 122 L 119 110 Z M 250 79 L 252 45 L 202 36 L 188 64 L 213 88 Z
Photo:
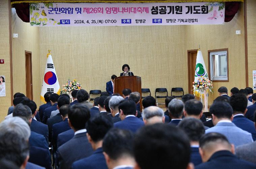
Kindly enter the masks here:
M 252 71 L 256 70 L 256 1 L 247 0 L 248 76 L 253 87 Z

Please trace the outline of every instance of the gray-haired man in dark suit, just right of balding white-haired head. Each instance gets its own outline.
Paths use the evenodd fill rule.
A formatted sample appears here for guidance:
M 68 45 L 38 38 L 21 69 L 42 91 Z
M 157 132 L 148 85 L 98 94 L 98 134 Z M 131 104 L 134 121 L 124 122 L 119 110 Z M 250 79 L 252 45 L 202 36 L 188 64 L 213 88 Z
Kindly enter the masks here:
M 182 118 L 184 103 L 178 99 L 172 99 L 168 104 L 168 110 L 171 117 L 169 124 L 177 126 Z

